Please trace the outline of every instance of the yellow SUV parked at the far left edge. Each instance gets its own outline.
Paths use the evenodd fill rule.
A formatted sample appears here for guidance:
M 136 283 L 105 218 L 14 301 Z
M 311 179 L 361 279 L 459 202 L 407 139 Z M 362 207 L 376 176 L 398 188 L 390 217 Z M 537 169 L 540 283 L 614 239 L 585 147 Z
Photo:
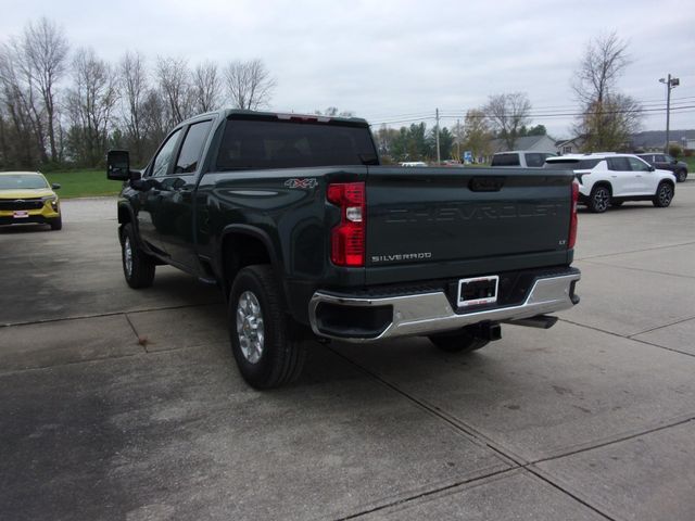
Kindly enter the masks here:
M 0 225 L 40 223 L 60 230 L 61 205 L 53 191 L 59 188 L 38 171 L 0 171 Z

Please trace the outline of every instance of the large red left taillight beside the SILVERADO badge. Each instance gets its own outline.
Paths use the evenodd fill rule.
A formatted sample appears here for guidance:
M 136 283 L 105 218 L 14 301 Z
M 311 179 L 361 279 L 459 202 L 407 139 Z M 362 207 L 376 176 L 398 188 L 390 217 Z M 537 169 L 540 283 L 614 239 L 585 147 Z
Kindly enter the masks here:
M 326 199 L 340 206 L 340 224 L 331 230 L 330 259 L 337 266 L 365 265 L 365 183 L 328 186 Z

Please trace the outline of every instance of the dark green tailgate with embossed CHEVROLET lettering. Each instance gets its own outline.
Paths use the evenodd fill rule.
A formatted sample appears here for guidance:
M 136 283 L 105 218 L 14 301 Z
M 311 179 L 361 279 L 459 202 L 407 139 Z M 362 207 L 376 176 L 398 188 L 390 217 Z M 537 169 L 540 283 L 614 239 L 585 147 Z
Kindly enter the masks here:
M 565 264 L 571 182 L 560 170 L 369 167 L 367 283 L 414 280 L 407 268 L 422 264 L 440 277 Z

